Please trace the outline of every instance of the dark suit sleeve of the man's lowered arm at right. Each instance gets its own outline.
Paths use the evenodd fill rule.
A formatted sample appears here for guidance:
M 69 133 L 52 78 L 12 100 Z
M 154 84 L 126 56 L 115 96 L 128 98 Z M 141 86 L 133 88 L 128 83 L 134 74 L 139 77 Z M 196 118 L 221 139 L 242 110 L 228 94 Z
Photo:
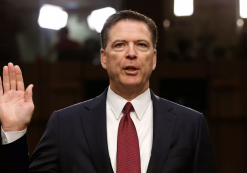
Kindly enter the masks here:
M 217 173 L 211 138 L 203 115 L 199 123 L 193 173 Z

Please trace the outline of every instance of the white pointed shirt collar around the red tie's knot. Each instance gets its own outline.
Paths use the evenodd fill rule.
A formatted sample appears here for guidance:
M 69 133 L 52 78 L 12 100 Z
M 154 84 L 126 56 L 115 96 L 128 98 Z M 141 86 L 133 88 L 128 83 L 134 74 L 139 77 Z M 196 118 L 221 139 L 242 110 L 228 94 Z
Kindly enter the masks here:
M 123 97 L 117 95 L 114 91 L 111 90 L 110 87 L 108 87 L 106 101 L 112 112 L 114 113 L 116 119 L 119 119 L 121 112 L 128 101 L 125 100 Z M 141 120 L 148 105 L 151 103 L 150 89 L 148 88 L 145 92 L 143 92 L 130 102 L 134 107 L 138 119 Z

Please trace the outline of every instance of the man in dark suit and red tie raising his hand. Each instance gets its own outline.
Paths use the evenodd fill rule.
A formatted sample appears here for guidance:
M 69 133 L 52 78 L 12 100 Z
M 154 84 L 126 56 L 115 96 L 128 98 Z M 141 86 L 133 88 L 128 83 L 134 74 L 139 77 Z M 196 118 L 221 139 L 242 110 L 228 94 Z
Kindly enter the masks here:
M 32 85 L 24 91 L 19 67 L 4 67 L 2 134 L 21 137 L 1 146 L 0 167 L 5 172 L 216 173 L 203 115 L 149 89 L 156 40 L 154 22 L 142 14 L 127 10 L 109 17 L 101 32 L 101 64 L 110 86 L 52 114 L 29 168 L 26 136 L 19 133 L 32 116 Z

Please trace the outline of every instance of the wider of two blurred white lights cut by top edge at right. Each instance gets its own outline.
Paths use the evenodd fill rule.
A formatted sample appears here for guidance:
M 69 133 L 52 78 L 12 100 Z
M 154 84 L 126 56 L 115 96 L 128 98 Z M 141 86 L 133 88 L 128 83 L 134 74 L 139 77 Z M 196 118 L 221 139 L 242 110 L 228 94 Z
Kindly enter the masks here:
M 193 0 L 174 0 L 174 14 L 176 16 L 191 16 L 193 12 Z

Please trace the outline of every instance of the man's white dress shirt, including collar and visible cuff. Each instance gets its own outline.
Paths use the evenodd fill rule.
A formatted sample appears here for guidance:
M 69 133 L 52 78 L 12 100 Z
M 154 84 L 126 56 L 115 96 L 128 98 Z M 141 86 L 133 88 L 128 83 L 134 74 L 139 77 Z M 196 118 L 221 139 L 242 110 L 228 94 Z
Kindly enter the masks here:
M 116 173 L 117 167 L 117 135 L 118 126 L 123 116 L 123 108 L 128 101 L 114 93 L 110 87 L 106 100 L 106 121 L 107 121 L 107 142 L 113 172 Z M 130 101 L 134 111 L 130 112 L 133 120 L 140 148 L 141 172 L 147 172 L 151 157 L 153 143 L 153 104 L 150 89 Z M 18 132 L 4 132 L 1 128 L 2 144 L 9 144 L 21 138 L 26 130 Z

